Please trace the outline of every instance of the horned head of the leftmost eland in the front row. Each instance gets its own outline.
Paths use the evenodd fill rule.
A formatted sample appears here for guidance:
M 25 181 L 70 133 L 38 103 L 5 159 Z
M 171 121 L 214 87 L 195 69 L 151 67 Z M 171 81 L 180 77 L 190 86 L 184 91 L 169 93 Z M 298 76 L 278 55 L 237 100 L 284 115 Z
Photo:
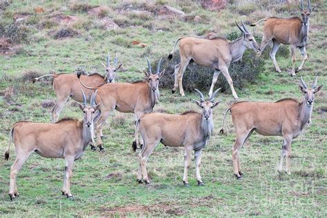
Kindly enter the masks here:
M 97 95 L 97 91 L 95 91 L 95 93 L 92 95 L 91 99 L 90 99 L 90 106 L 87 105 L 86 103 L 86 96 L 82 91 L 82 95 L 83 95 L 83 104 L 79 103 L 79 108 L 81 108 L 81 110 L 83 111 L 84 115 L 83 115 L 83 124 L 86 125 L 88 128 L 93 128 L 93 121 L 95 119 L 95 115 L 97 112 L 97 110 L 99 109 L 99 103 L 96 104 L 95 103 L 95 97 Z M 93 130 L 92 130 L 93 132 Z

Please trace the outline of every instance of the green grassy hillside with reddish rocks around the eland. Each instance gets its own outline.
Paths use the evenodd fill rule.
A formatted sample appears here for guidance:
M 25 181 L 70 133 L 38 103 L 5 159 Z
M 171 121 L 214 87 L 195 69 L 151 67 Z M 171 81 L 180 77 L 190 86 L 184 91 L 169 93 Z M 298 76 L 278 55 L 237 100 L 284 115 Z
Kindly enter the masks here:
M 208 32 L 228 37 L 231 32 L 239 31 L 235 19 L 251 23 L 268 16 L 298 14 L 293 4 L 231 2 L 217 12 L 204 9 L 197 1 L 4 1 L 0 4 L 0 36 L 4 36 L 0 37 L 0 154 L 8 148 L 8 134 L 14 122 L 50 122 L 55 99 L 51 82 L 31 83 L 31 77 L 49 72 L 73 73 L 82 66 L 90 72 L 104 73 L 101 61 L 105 61 L 108 52 L 112 59 L 117 52 L 119 62 L 123 62 L 118 81 L 136 81 L 143 78 L 145 57 L 152 60 L 166 57 L 179 37 Z M 309 83 L 319 75 L 318 83 L 324 87 L 316 95 L 313 123 L 293 141 L 292 175 L 277 173 L 281 137 L 253 134 L 241 149 L 244 178 L 235 179 L 231 159 L 235 135 L 229 115 L 228 134 L 218 134 L 224 110 L 232 101 L 228 90 L 219 94 L 221 104 L 214 111 L 215 130 L 202 155 L 201 176 L 206 186 L 197 186 L 192 163 L 190 187 L 184 187 L 181 181 L 184 150 L 161 144 L 148 160 L 152 184 L 137 184 L 137 153 L 131 150 L 133 116 L 115 112 L 103 131 L 106 152 L 92 152 L 88 148 L 83 158 L 75 162 L 71 184 L 74 200 L 61 195 L 63 161 L 33 154 L 17 177 L 21 196 L 10 201 L 10 166 L 15 156 L 11 148 L 9 161 L 0 160 L 0 215 L 326 217 L 327 3 L 312 3 L 317 3 L 317 7 L 310 15 L 309 59 L 304 70 L 290 77 L 291 57 L 288 47 L 284 47 L 281 50 L 285 54 L 277 52 L 277 62 L 283 72 L 275 72 L 272 61 L 266 57 L 265 70 L 256 83 L 236 89 L 240 100 L 276 101 L 285 97 L 300 100 L 299 77 Z M 159 10 L 165 5 L 182 10 L 186 15 L 162 17 Z M 97 6 L 101 8 L 92 10 Z M 201 20 L 194 21 L 195 16 Z M 106 21 L 115 22 L 119 28 L 107 29 L 103 24 Z M 250 30 L 261 37 L 262 26 Z M 65 34 L 70 37 L 57 39 Z M 145 45 L 134 45 L 133 41 Z M 299 51 L 297 59 L 299 66 Z M 221 75 L 219 79 L 224 77 Z M 186 92 L 186 97 L 180 97 L 172 95 L 169 89 L 160 92 L 160 103 L 155 111 L 199 110 L 191 101 L 197 98 L 194 93 Z M 61 117 L 81 119 L 81 112 L 75 102 L 68 101 Z

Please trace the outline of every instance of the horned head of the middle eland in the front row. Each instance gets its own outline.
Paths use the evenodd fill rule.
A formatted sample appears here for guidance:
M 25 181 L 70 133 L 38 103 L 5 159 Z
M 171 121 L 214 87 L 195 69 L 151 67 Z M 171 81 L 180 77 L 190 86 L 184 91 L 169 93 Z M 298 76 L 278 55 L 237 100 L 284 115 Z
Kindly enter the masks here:
M 215 108 L 215 106 L 217 106 L 219 104 L 219 102 L 220 102 L 220 100 L 215 101 L 215 97 L 217 95 L 217 92 L 220 89 L 221 88 L 215 90 L 215 92 L 212 93 L 212 95 L 211 95 L 211 97 L 210 97 L 210 99 L 208 101 L 206 101 L 204 99 L 204 95 L 202 94 L 202 92 L 195 89 L 197 94 L 199 94 L 199 96 L 200 96 L 200 101 L 197 101 L 195 99 L 193 99 L 193 101 L 195 101 L 195 103 L 197 103 L 197 105 L 200 108 L 202 108 L 202 115 L 203 115 L 205 121 L 210 121 L 212 119 L 212 109 Z

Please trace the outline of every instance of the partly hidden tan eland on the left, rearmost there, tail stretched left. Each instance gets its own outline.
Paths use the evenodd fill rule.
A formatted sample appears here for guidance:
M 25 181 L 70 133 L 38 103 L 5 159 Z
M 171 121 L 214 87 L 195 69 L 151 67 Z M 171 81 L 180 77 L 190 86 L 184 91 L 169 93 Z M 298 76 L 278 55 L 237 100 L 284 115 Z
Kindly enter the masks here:
M 97 73 L 92 75 L 81 76 L 81 81 L 83 81 L 86 86 L 100 86 L 105 83 L 115 82 L 116 72 L 121 68 L 122 63 L 117 66 L 118 56 L 116 54 L 114 65 L 110 65 L 109 54 L 106 58 L 106 65 L 101 62 L 101 64 L 106 68 L 106 77 L 103 77 Z M 86 93 L 86 98 L 90 99 L 92 95 L 92 90 L 83 88 L 79 83 L 76 75 L 68 74 L 53 74 L 53 75 L 43 75 L 33 79 L 33 82 L 38 81 L 43 77 L 53 77 L 53 88 L 57 97 L 57 101 L 52 108 L 52 122 L 56 122 L 59 119 L 59 115 L 63 106 L 68 101 L 69 97 L 75 101 L 82 102 L 83 97 L 81 95 L 81 89 Z

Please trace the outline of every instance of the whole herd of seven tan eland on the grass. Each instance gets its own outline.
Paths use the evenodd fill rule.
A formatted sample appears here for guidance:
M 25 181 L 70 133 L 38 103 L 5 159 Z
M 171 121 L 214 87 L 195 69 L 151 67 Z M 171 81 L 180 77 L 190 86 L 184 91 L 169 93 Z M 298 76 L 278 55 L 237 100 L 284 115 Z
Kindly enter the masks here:
M 10 199 L 19 196 L 16 184 L 17 173 L 32 152 L 46 158 L 65 159 L 62 193 L 68 198 L 72 198 L 70 178 L 72 177 L 73 163 L 81 158 L 89 145 L 92 150 L 97 149 L 96 144 L 100 150 L 104 149 L 102 128 L 113 110 L 134 114 L 135 139 L 132 143 L 132 149 L 134 151 L 140 150 L 137 173 L 139 183 L 150 183 L 146 162 L 151 152 L 161 142 L 164 146 L 184 147 L 183 182 L 185 186 L 189 186 L 188 168 L 190 167 L 192 151 L 195 152 L 195 176 L 198 185 L 203 186 L 204 182 L 200 175 L 201 152 L 210 140 L 214 128 L 212 112 L 219 105 L 219 101 L 215 101 L 219 89 L 214 92 L 214 88 L 220 72 L 228 81 L 232 96 L 238 99 L 228 72 L 230 63 L 239 61 L 246 49 L 254 50 L 259 56 L 269 41 L 273 41 L 270 57 L 273 59 L 275 69 L 277 72 L 281 72 L 275 59 L 279 44 L 289 44 L 293 57 L 291 75 L 294 76 L 295 72 L 302 70 L 308 59 L 306 44 L 308 42 L 309 15 L 314 8 L 315 6 L 311 8 L 310 0 L 308 0 L 307 8 L 304 8 L 304 3 L 301 0 L 299 6 L 301 17 L 287 19 L 269 17 L 252 24 L 251 26 L 255 26 L 259 22 L 265 21 L 260 46 L 243 20 L 241 20 L 241 25 L 236 23 L 237 28 L 241 31 L 241 37 L 232 42 L 220 37 L 213 39 L 182 37 L 177 39 L 168 56 L 168 59 L 172 58 L 179 42 L 181 63 L 175 66 L 175 83 L 172 92 L 179 88 L 180 95 L 185 96 L 182 79 L 191 61 L 199 66 L 215 69 L 208 100 L 201 91 L 195 89 L 199 95 L 199 100 L 193 99 L 193 101 L 201 108 L 201 112 L 188 110 L 180 115 L 152 112 L 155 104 L 159 102 L 159 81 L 165 72 L 165 70 L 160 70 L 161 59 L 157 64 L 157 70 L 152 72 L 150 61 L 146 58 L 148 69 L 143 70 L 145 77 L 143 81 L 134 83 L 115 82 L 116 72 L 122 64 L 118 64 L 117 54 L 113 63 L 110 63 L 109 54 L 106 57 L 106 64 L 101 63 L 106 69 L 105 76 L 78 73 L 77 75 L 43 75 L 35 78 L 33 82 L 39 81 L 43 77 L 53 78 L 57 102 L 52 108 L 52 123 L 18 121 L 12 126 L 8 150 L 5 154 L 5 159 L 8 160 L 10 144 L 14 143 L 16 159 L 10 168 Z M 297 70 L 295 70 L 296 48 L 299 48 L 304 56 Z M 236 101 L 226 109 L 220 132 L 224 133 L 224 121 L 227 112 L 230 112 L 236 134 L 236 140 L 232 147 L 232 163 L 237 179 L 241 179 L 243 175 L 239 163 L 239 150 L 252 132 L 264 136 L 283 137 L 284 143 L 281 146 L 278 171 L 282 171 L 286 158 L 285 171 L 290 174 L 292 140 L 298 137 L 304 127 L 311 122 L 315 94 L 321 90 L 321 86 L 317 85 L 317 77 L 311 86 L 307 86 L 301 78 L 299 90 L 304 95 L 303 101 L 292 98 L 280 99 L 275 102 Z M 83 111 L 82 121 L 67 118 L 59 120 L 59 114 L 70 97 L 79 102 L 79 108 Z M 88 106 L 87 101 L 90 101 L 90 106 Z

